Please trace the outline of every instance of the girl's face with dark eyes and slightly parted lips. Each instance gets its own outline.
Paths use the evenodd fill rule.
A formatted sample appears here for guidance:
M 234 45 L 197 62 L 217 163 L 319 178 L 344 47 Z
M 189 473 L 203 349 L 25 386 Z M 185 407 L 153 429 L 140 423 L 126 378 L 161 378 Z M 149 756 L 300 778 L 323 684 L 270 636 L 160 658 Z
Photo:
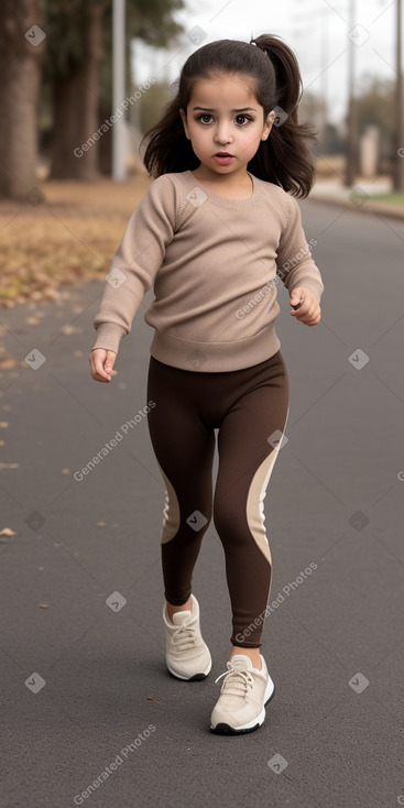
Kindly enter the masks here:
M 271 111 L 264 121 L 250 84 L 238 75 L 199 79 L 187 109 L 181 110 L 185 134 L 208 174 L 245 173 L 271 132 L 276 114 Z

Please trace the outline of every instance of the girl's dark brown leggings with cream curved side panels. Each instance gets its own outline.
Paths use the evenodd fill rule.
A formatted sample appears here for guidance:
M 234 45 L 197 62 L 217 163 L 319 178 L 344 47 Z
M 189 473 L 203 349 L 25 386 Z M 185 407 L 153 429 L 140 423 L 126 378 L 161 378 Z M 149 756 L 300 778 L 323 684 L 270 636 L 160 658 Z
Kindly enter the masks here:
M 185 603 L 211 516 L 222 543 L 232 645 L 260 647 L 271 586 L 263 500 L 288 415 L 279 350 L 252 368 L 197 372 L 151 357 L 150 437 L 166 488 L 162 528 L 164 596 Z M 212 495 L 215 432 L 219 468 Z M 269 440 L 270 438 L 270 440 Z

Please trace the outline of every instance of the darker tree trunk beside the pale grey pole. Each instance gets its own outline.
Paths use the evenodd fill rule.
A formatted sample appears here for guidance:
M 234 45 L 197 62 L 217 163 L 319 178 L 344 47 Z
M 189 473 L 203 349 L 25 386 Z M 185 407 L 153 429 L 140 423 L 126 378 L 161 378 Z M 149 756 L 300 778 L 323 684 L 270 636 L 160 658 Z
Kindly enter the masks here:
M 51 176 L 55 179 L 90 181 L 98 176 L 98 63 L 102 55 L 102 11 L 103 0 L 86 3 L 83 58 L 55 77 L 51 150 Z

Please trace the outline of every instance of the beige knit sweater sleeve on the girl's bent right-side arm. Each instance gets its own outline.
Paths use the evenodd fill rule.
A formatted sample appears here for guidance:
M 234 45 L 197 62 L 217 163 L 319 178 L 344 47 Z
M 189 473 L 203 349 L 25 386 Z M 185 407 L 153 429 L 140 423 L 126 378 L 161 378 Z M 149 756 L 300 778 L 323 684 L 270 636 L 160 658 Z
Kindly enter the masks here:
M 320 301 L 324 284 L 320 272 L 312 258 L 302 227 L 301 208 L 296 199 L 290 194 L 286 195 L 286 200 L 288 221 L 277 248 L 276 274 L 281 277 L 290 294 L 297 286 L 306 286 Z

